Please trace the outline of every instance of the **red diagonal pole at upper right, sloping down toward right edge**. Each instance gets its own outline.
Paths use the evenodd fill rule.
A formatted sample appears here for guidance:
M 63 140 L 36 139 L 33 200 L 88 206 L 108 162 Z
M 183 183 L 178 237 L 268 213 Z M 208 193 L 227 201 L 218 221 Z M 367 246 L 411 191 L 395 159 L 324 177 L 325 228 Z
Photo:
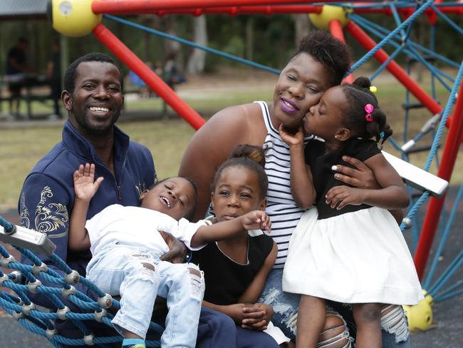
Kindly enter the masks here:
M 368 51 L 373 49 L 376 46 L 376 42 L 368 36 L 360 26 L 350 21 L 345 29 Z M 389 58 L 389 55 L 383 50 L 380 49 L 373 55 L 380 63 L 384 63 Z M 397 80 L 402 83 L 405 88 L 410 91 L 433 115 L 442 111 L 442 106 L 431 98 L 429 94 L 425 92 L 415 81 L 413 81 L 410 76 L 400 67 L 399 64 L 395 61 L 390 61 L 386 66 L 387 70 L 392 73 L 392 75 L 397 78 Z

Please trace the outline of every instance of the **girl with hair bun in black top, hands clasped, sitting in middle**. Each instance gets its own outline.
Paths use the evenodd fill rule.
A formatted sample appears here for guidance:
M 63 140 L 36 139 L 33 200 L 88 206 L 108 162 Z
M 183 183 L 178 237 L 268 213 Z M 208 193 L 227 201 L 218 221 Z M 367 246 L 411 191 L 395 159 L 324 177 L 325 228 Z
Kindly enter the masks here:
M 218 222 L 265 210 L 268 180 L 264 163 L 261 148 L 234 148 L 212 183 L 211 202 Z M 276 252 L 276 243 L 261 230 L 243 230 L 241 235 L 194 252 L 192 262 L 204 272 L 206 282 L 203 305 L 234 319 L 237 347 L 279 347 L 261 332 L 268 327 L 273 309 L 256 303 Z

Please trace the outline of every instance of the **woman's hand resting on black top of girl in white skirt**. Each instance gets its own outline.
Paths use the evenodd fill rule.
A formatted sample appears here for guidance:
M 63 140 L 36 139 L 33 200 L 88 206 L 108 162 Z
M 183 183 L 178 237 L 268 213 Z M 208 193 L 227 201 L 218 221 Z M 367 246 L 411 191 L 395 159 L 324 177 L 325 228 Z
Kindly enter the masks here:
M 361 160 L 349 156 L 343 156 L 343 160 L 355 168 L 346 167 L 345 165 L 333 165 L 332 169 L 336 172 L 334 175 L 336 180 L 355 188 L 366 188 L 369 190 L 378 190 L 381 188 L 373 171 Z

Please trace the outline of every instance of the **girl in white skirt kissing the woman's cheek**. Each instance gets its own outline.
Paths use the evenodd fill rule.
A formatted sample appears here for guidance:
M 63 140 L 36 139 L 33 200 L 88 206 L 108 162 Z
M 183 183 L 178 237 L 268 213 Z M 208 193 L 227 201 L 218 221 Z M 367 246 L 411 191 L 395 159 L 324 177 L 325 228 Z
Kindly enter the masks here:
M 294 95 L 297 97 L 297 91 Z M 303 133 L 323 138 L 303 148 Z M 289 243 L 283 290 L 301 294 L 296 347 L 316 347 L 326 300 L 352 304 L 356 347 L 381 347 L 380 304 L 415 305 L 422 290 L 410 251 L 388 209 L 406 208 L 407 190 L 378 142 L 392 134 L 368 78 L 328 89 L 290 134 L 291 193 L 302 215 Z M 374 138 L 375 140 L 372 140 Z M 363 160 L 381 188 L 333 178 L 345 156 Z

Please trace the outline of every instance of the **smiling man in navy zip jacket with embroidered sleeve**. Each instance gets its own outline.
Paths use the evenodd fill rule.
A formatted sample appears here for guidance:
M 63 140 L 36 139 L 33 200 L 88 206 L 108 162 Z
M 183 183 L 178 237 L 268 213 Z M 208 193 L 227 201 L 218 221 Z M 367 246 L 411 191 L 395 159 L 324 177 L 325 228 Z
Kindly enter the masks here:
M 31 170 L 19 198 L 22 225 L 47 233 L 56 244 L 56 254 L 83 276 L 91 257 L 90 250 L 68 251 L 69 215 L 75 197 L 74 170 L 80 164 L 95 163 L 96 177 L 105 178 L 90 202 L 87 218 L 111 204 L 138 205 L 140 194 L 155 182 L 150 150 L 131 142 L 128 135 L 115 126 L 123 107 L 123 88 L 123 73 L 113 59 L 103 53 L 89 53 L 71 63 L 64 76 L 61 94 L 69 115 L 63 128 L 63 139 Z M 172 240 L 167 242 L 170 246 L 174 243 Z M 165 255 L 164 259 L 168 260 L 170 256 Z M 75 287 L 96 298 L 86 287 L 80 284 Z M 48 297 L 40 294 L 31 294 L 31 300 L 55 307 Z M 66 305 L 78 311 L 71 302 Z M 204 342 L 204 347 L 229 347 L 226 330 L 221 331 L 222 320 L 207 309 L 202 311 L 200 321 L 203 324 L 198 339 Z M 83 337 L 80 329 L 69 320 L 57 323 L 57 326 L 66 337 Z M 89 328 L 98 336 L 117 334 L 97 322 L 89 323 Z M 211 332 L 212 329 L 215 331 Z

